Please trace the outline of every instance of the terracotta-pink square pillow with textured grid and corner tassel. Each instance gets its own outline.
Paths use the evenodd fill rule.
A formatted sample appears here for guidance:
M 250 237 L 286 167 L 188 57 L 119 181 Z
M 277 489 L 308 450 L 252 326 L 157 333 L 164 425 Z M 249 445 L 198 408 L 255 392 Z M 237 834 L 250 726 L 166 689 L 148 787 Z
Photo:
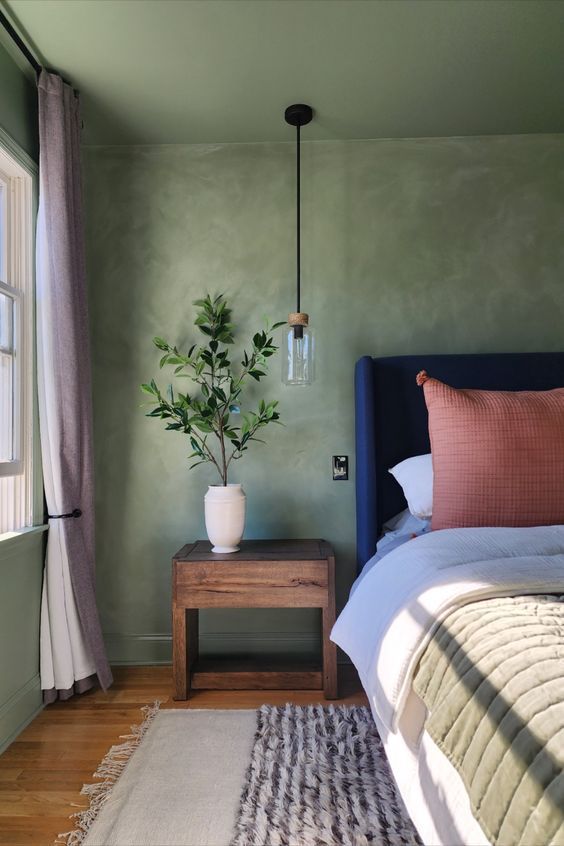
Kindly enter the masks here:
M 422 370 L 433 529 L 564 523 L 564 388 L 459 390 Z

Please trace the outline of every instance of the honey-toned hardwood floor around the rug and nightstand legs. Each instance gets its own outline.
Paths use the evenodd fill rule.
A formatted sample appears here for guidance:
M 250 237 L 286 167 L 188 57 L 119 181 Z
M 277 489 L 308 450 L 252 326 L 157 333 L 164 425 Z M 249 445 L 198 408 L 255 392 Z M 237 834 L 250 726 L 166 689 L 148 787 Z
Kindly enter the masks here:
M 80 789 L 121 734 L 139 723 L 139 708 L 159 699 L 164 708 L 256 708 L 263 703 L 324 702 L 321 691 L 196 691 L 173 702 L 170 667 L 119 667 L 107 692 L 91 691 L 50 705 L 0 757 L 0 844 L 52 846 L 74 828 L 73 806 L 85 806 Z M 341 698 L 366 704 L 351 667 L 339 668 Z

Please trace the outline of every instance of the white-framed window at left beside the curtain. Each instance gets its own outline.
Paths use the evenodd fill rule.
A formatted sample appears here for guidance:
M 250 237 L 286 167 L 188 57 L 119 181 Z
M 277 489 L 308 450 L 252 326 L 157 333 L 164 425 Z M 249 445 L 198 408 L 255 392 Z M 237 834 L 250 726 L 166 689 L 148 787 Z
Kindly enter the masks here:
M 0 534 L 32 525 L 32 177 L 0 147 Z

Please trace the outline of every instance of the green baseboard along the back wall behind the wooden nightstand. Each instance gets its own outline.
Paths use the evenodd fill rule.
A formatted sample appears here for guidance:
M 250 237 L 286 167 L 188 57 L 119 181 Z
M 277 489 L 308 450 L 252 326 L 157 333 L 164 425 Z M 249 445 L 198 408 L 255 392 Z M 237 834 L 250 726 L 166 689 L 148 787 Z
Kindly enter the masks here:
M 170 634 L 106 633 L 104 641 L 110 664 L 170 664 Z M 308 655 L 319 652 L 321 639 L 308 632 L 202 632 L 200 650 L 208 654 Z

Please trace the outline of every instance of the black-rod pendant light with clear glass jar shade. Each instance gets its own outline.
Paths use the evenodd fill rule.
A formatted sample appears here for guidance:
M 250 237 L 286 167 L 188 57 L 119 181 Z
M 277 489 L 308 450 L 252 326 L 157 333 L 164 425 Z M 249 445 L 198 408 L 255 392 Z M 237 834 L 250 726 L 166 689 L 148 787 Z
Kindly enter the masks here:
M 314 378 L 314 342 L 309 327 L 309 315 L 301 308 L 300 298 L 300 129 L 313 117 L 311 106 L 296 103 L 284 112 L 286 123 L 296 127 L 296 311 L 288 315 L 288 328 L 282 344 L 282 381 L 286 385 L 311 385 Z

